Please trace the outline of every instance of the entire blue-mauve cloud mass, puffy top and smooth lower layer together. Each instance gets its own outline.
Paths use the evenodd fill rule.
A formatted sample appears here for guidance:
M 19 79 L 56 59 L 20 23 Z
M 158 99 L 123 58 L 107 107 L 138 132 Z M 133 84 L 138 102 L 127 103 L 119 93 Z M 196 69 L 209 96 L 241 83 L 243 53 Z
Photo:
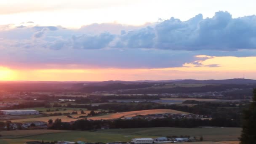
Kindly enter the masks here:
M 80 29 L 25 26 L 0 26 L 0 65 L 203 69 L 221 67 L 216 61 L 204 63 L 216 57 L 256 53 L 256 16 L 233 19 L 222 11 L 212 18 L 198 14 L 188 21 L 171 18 L 141 27 L 116 23 Z

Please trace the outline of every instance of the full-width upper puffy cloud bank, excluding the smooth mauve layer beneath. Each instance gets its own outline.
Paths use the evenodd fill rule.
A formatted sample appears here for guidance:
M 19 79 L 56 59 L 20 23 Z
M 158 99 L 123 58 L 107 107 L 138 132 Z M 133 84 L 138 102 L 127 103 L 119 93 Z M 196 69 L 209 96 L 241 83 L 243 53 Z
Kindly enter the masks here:
M 10 27 L 13 25 L 1 29 L 8 30 L 11 29 Z M 28 32 L 34 31 L 32 36 L 35 38 L 42 38 L 47 32 L 48 36 L 44 37 L 45 45 L 49 42 L 53 43 L 53 39 L 56 39 L 54 37 L 61 37 L 62 42 L 65 43 L 63 46 L 83 49 L 147 48 L 182 51 L 256 49 L 256 16 L 233 19 L 230 13 L 224 11 L 216 12 L 212 18 L 203 19 L 202 14 L 188 21 L 171 17 L 141 27 L 107 23 L 91 24 L 80 29 L 65 29 L 60 26 L 22 28 L 23 31 L 17 29 L 12 31 L 19 32 L 19 35 L 22 35 L 22 32 L 29 35 Z M 13 37 L 17 36 L 13 34 Z M 59 46 L 62 45 L 59 41 L 58 43 Z

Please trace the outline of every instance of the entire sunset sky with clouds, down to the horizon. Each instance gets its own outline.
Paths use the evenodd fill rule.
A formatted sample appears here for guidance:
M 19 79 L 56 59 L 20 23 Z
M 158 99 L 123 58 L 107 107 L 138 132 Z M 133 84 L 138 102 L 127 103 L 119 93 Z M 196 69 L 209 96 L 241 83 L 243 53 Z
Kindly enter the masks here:
M 254 0 L 0 0 L 0 80 L 256 79 Z

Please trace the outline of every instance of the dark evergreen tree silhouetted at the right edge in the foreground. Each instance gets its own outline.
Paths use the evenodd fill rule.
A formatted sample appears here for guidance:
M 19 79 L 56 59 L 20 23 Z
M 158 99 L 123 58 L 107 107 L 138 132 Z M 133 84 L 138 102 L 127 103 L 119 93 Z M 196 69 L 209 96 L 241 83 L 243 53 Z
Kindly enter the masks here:
M 256 144 L 256 88 L 253 90 L 253 101 L 249 109 L 243 111 L 243 130 L 240 144 Z

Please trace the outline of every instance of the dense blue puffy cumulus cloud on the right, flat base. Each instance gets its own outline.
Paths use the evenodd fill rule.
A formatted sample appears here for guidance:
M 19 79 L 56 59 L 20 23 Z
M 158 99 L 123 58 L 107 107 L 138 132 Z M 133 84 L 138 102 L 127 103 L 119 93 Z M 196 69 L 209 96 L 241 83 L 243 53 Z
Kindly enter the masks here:
M 158 48 L 167 50 L 237 51 L 256 49 L 256 16 L 232 19 L 228 12 L 219 11 L 213 18 L 199 14 L 188 21 L 171 18 L 155 27 L 135 30 L 121 36 L 125 48 Z M 147 45 L 138 41 L 146 40 Z M 152 43 L 149 43 L 152 42 Z M 131 45 L 131 43 L 133 45 Z

